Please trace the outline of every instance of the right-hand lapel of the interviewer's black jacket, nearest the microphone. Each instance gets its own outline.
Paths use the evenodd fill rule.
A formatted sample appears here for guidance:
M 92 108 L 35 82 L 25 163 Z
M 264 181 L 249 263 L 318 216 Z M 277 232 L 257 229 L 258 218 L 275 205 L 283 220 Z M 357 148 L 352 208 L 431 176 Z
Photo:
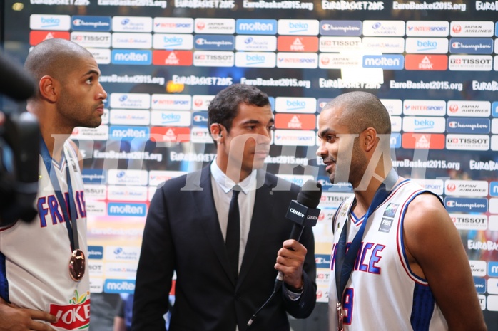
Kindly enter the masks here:
M 265 178 L 266 172 L 258 171 L 258 187 L 253 208 L 253 218 L 250 221 L 250 230 L 248 235 L 248 242 L 245 246 L 244 257 L 242 265 L 240 266 L 240 273 L 238 277 L 238 284 L 241 284 L 250 270 L 255 257 L 258 255 L 260 248 L 261 233 L 265 232 L 266 221 L 268 220 L 268 213 L 270 206 L 273 206 L 273 191 L 271 183 L 268 178 Z M 261 183 L 264 182 L 262 185 Z

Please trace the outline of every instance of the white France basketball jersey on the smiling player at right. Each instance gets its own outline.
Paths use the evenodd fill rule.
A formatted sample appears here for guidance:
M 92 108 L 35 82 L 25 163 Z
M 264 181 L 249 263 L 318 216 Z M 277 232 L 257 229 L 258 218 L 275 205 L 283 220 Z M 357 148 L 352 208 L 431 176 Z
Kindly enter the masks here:
M 344 330 L 448 330 L 427 280 L 412 273 L 403 246 L 403 218 L 410 201 L 427 192 L 410 180 L 401 182 L 368 219 L 360 250 L 342 298 Z M 350 244 L 365 219 L 350 212 L 354 196 L 335 214 L 332 246 L 329 331 L 337 331 L 335 252 L 347 221 Z

